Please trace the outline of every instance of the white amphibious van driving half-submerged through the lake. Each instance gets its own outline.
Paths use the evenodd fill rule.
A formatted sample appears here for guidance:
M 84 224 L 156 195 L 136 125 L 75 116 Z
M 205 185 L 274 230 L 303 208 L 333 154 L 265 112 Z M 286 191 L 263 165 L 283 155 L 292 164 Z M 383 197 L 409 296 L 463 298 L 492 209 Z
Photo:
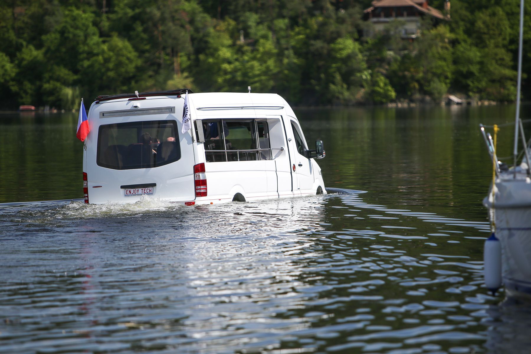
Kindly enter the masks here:
M 182 133 L 185 93 L 192 127 Z M 172 90 L 99 96 L 88 113 L 85 203 L 218 204 L 326 193 L 323 142 L 309 149 L 288 103 L 270 93 Z

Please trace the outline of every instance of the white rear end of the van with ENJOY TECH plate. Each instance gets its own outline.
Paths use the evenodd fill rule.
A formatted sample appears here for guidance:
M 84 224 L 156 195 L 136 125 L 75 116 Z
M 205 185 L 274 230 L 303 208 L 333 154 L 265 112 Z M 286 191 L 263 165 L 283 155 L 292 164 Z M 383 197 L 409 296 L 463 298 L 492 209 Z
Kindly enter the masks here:
M 135 202 L 143 194 L 194 200 L 192 137 L 181 133 L 176 115 L 183 99 L 148 99 L 142 108 L 115 109 L 124 106 L 108 102 L 91 112 L 99 125 L 87 143 L 89 202 Z

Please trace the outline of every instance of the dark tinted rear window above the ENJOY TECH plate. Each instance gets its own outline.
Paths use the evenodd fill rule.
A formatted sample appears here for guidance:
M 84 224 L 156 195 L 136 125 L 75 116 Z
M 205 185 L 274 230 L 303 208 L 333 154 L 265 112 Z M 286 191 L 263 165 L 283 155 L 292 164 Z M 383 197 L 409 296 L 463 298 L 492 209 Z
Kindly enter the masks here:
M 96 163 L 115 170 L 152 168 L 181 158 L 175 120 L 100 125 Z

